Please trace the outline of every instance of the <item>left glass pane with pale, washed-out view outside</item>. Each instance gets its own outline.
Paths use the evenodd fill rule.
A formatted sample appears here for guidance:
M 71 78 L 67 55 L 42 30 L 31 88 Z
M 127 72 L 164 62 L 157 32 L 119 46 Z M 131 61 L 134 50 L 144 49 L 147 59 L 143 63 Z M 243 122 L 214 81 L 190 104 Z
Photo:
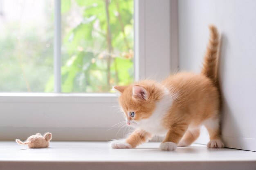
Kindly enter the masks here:
M 0 92 L 53 91 L 54 0 L 0 0 Z

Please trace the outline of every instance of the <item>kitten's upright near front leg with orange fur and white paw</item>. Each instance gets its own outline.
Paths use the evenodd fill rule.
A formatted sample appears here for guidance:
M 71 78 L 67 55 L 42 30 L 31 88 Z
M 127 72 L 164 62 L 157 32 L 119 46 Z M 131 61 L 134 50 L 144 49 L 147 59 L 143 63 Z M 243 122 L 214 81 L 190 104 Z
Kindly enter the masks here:
M 175 124 L 166 134 L 164 141 L 160 144 L 161 150 L 176 150 L 177 144 L 188 129 L 187 124 Z

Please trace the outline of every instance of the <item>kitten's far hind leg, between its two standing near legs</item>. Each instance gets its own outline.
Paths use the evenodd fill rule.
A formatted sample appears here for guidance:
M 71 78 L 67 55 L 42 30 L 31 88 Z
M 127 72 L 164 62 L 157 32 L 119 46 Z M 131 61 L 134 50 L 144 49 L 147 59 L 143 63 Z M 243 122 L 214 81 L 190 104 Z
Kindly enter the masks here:
M 188 129 L 182 139 L 180 140 L 178 147 L 185 147 L 193 144 L 200 135 L 200 129 Z

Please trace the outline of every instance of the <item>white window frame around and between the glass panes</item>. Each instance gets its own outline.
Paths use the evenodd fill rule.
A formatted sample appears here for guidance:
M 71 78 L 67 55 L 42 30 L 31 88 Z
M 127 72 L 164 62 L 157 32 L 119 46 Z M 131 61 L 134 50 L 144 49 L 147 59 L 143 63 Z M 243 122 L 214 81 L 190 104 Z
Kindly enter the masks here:
M 55 5 L 55 17 L 60 18 L 60 0 Z M 177 70 L 177 15 L 170 10 L 175 5 L 176 0 L 135 0 L 135 81 L 165 78 Z M 24 139 L 38 132 L 51 132 L 55 140 L 109 140 L 123 135 L 124 131 L 116 135 L 118 129 L 107 131 L 124 121 L 113 108 L 118 105 L 115 94 L 58 93 L 60 24 L 55 21 L 56 93 L 0 93 L 0 139 Z

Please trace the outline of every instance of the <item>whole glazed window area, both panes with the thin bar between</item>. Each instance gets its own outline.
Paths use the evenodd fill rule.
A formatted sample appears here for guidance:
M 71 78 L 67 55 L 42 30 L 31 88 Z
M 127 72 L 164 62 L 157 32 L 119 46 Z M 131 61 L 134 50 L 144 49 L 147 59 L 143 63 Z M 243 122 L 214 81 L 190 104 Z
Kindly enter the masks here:
M 110 92 L 133 81 L 133 0 L 1 2 L 0 92 Z

